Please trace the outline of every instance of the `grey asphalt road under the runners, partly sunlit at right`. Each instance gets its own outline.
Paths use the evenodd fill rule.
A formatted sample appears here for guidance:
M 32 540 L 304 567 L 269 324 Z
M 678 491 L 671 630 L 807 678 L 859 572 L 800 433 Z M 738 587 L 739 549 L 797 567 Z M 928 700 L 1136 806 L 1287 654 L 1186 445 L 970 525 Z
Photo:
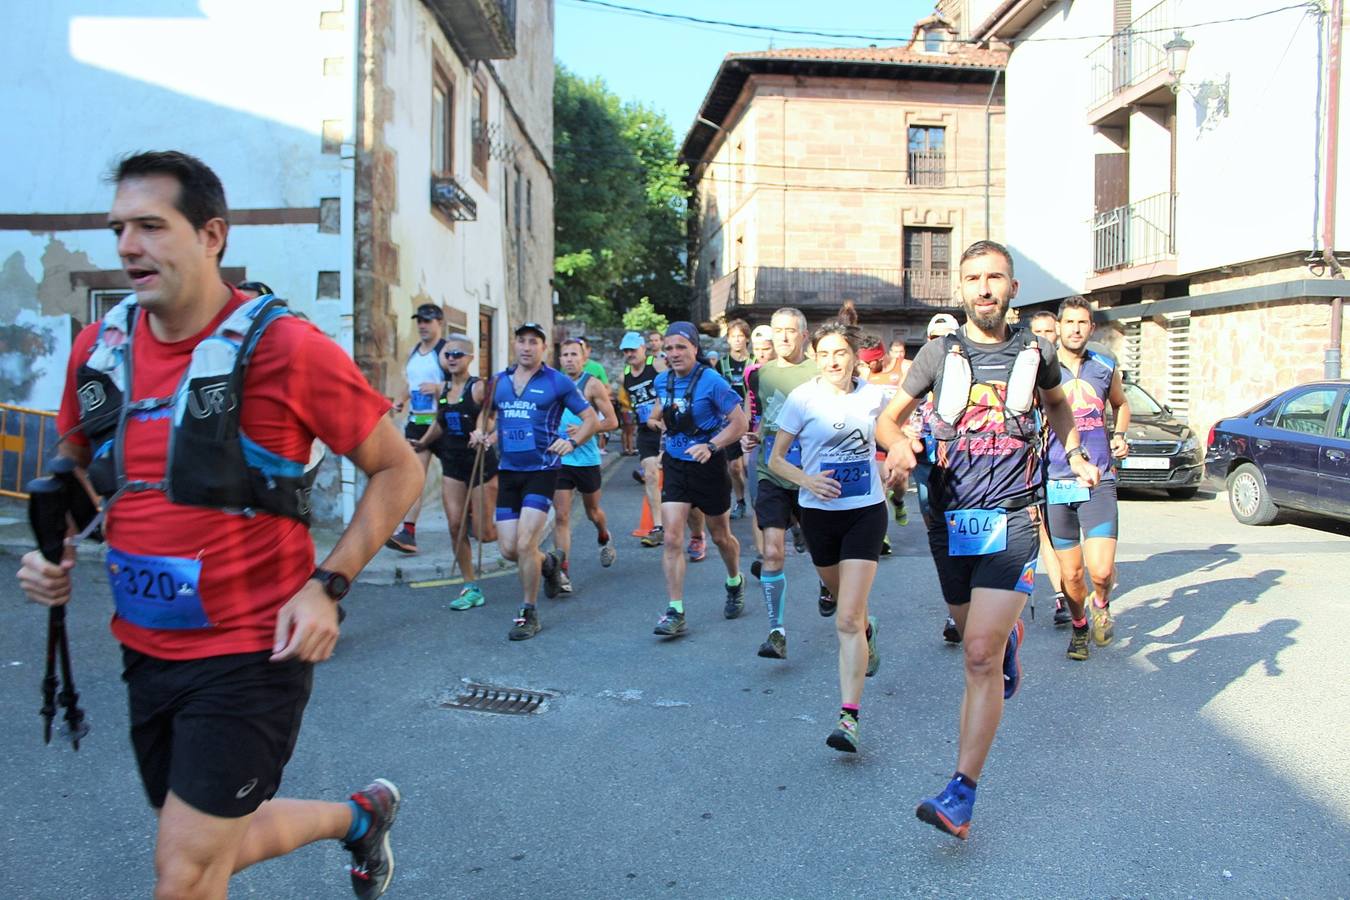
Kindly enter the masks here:
M 963 843 L 913 812 L 954 765 L 961 692 L 918 517 L 891 526 L 872 598 L 883 663 L 849 757 L 824 742 L 836 641 L 809 560 L 790 551 L 787 661 L 755 654 L 767 627 L 753 580 L 747 614 L 722 618 L 713 555 L 690 567 L 690 633 L 660 641 L 660 552 L 626 537 L 629 466 L 606 488 L 618 563 L 599 567 L 578 515 L 578 592 L 541 600 L 532 641 L 506 641 L 513 575 L 467 613 L 448 610 L 450 588 L 350 598 L 284 793 L 398 783 L 389 897 L 1350 893 L 1343 526 L 1247 529 L 1222 497 L 1125 502 L 1116 642 L 1068 661 L 1042 579 L 1023 690 Z M 3 596 L 0 896 L 146 897 L 154 819 L 107 587 L 81 565 L 72 644 L 94 730 L 78 753 L 40 742 L 43 614 L 12 582 Z M 531 716 L 443 708 L 466 679 L 558 696 Z M 236 876 L 231 896 L 350 896 L 344 862 L 335 842 L 305 847 Z

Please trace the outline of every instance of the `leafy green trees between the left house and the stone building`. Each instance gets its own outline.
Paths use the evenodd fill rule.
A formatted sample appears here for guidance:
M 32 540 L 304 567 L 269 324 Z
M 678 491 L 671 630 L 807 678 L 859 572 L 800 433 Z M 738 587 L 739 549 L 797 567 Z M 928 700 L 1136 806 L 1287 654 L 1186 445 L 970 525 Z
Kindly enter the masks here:
M 684 317 L 684 165 L 666 117 L 558 66 L 554 271 L 564 316 L 614 325 L 640 298 Z

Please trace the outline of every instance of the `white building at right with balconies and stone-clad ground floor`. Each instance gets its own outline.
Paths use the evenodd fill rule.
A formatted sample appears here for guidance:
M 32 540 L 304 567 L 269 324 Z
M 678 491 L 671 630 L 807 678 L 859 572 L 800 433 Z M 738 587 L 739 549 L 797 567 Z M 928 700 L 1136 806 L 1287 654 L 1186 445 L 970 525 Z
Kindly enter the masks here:
M 1335 375 L 1345 281 L 1327 256 L 1350 161 L 1326 138 L 1328 39 L 1343 22 L 1324 4 L 1234 18 L 1224 0 L 942 8 L 976 46 L 1013 47 L 1007 231 L 1022 313 L 1088 297 L 1122 367 L 1202 436 Z

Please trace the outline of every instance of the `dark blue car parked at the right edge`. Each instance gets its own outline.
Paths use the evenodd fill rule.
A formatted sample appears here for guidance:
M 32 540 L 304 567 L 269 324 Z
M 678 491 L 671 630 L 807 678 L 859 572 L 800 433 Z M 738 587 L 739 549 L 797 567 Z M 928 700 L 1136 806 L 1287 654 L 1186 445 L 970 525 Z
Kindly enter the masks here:
M 1350 521 L 1350 381 L 1299 385 L 1215 422 L 1204 471 L 1243 525 L 1281 509 Z

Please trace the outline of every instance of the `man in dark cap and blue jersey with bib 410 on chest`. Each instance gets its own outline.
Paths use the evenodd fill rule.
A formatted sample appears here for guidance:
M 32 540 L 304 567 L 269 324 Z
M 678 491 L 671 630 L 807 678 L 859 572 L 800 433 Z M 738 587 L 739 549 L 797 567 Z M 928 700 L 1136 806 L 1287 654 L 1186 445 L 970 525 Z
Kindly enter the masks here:
M 540 575 L 544 594 L 558 596 L 562 587 L 562 560 L 540 553 L 539 541 L 548 525 L 548 510 L 558 484 L 558 468 L 564 456 L 599 430 L 599 418 L 572 379 L 544 364 L 548 332 L 525 322 L 516 329 L 516 364 L 493 378 L 487 421 L 475 430 L 470 444 L 497 444 L 497 544 L 502 556 L 520 569 L 520 613 L 506 634 L 512 641 L 528 641 L 539 634 Z M 559 437 L 563 410 L 571 410 L 580 425 L 571 437 Z

